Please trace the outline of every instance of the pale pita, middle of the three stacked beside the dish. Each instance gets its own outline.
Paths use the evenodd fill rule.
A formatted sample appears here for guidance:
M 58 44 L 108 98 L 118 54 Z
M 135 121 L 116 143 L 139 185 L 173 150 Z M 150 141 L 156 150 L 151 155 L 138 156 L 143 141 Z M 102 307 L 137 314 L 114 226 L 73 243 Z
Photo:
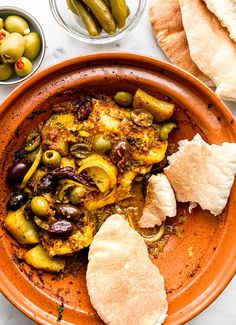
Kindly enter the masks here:
M 202 0 L 179 0 L 190 55 L 214 80 L 216 94 L 236 101 L 236 46 Z

